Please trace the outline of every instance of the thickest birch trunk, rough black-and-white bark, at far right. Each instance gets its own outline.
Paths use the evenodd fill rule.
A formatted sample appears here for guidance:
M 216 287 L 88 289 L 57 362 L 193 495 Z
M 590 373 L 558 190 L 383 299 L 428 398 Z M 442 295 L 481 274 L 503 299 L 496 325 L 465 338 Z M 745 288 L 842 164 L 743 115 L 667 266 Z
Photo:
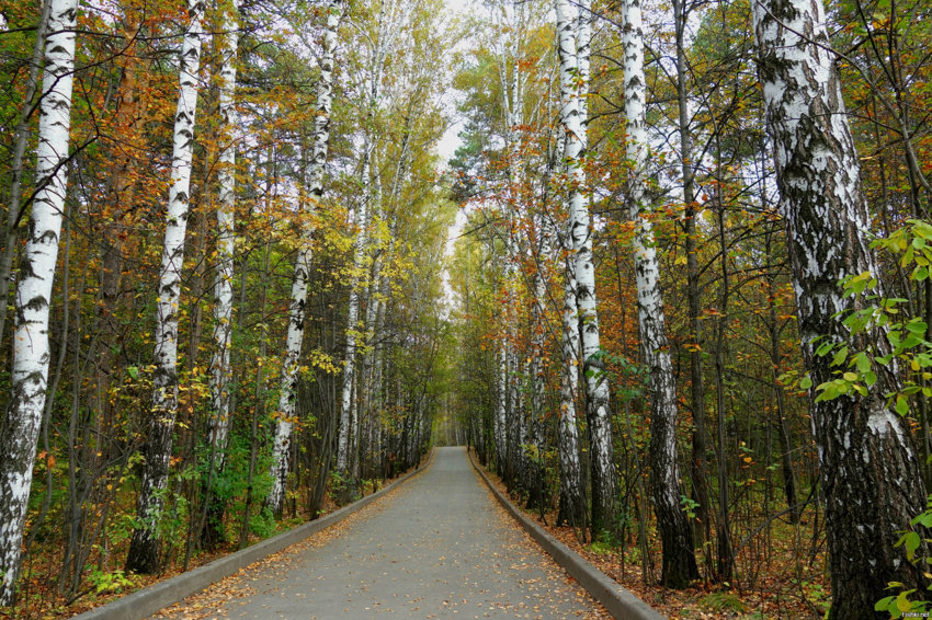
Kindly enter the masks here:
M 867 244 L 867 203 L 822 2 L 762 0 L 753 4 L 753 23 L 803 358 L 815 397 L 815 387 L 833 379 L 836 370 L 832 356 L 815 353 L 822 342 L 852 351 L 887 345 L 880 329 L 853 335 L 842 323 L 865 300 L 843 296 L 839 279 L 877 276 Z M 823 340 L 817 343 L 818 337 Z M 907 561 L 901 547 L 894 548 L 924 507 L 925 485 L 909 425 L 884 397 L 898 389 L 898 378 L 879 365 L 873 370 L 877 382 L 867 395 L 812 398 L 810 405 L 826 504 L 830 619 L 877 618 L 874 604 L 887 594 L 888 582 L 925 586 L 922 569 Z M 919 556 L 924 555 L 920 549 Z

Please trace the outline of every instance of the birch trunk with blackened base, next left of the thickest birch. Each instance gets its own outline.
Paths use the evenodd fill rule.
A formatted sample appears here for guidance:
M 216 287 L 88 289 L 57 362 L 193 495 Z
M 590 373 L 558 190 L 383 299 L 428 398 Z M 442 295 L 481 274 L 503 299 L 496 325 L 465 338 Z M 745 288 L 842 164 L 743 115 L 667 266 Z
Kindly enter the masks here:
M 698 569 L 693 554 L 693 530 L 680 507 L 677 383 L 667 342 L 660 263 L 649 219 L 650 208 L 645 199 L 647 88 L 640 0 L 626 0 L 623 12 L 626 150 L 630 164 L 627 199 L 630 218 L 635 222 L 634 263 L 640 342 L 649 371 L 651 495 L 663 548 L 661 582 L 668 587 L 682 588 L 698 577 Z

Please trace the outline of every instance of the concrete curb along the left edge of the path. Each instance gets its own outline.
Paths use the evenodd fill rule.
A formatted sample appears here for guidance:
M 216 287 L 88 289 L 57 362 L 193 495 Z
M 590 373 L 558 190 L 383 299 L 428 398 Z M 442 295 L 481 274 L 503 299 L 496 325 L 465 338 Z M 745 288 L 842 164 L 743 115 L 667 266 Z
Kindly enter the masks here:
M 245 569 L 254 562 L 264 560 L 273 553 L 277 553 L 279 551 L 282 551 L 292 544 L 296 544 L 320 530 L 340 523 L 353 513 L 372 504 L 386 493 L 396 489 L 401 483 L 407 482 L 418 473 L 428 469 L 431 463 L 433 463 L 433 457 L 434 451 L 431 450 L 431 456 L 424 466 L 418 467 L 413 471 L 409 471 L 379 491 L 371 495 L 366 495 L 362 500 L 343 506 L 339 510 L 330 513 L 315 521 L 300 525 L 294 529 L 282 532 L 279 536 L 257 542 L 252 547 L 247 547 L 242 551 L 236 551 L 229 555 L 214 560 L 209 564 L 198 566 L 197 569 L 187 571 L 186 573 L 182 573 L 175 577 L 152 584 L 112 602 L 102 605 L 101 607 L 91 609 L 79 616 L 75 616 L 73 620 L 140 620 L 141 618 L 148 618 L 160 609 L 174 605 L 185 597 L 198 593 L 212 584 L 235 574 L 240 569 Z

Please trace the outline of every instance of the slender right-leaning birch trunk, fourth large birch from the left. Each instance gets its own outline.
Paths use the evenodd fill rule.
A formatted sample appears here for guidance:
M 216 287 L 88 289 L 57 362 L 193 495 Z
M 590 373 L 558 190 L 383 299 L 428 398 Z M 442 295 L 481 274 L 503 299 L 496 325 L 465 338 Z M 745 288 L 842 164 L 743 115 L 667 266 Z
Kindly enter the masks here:
M 314 145 L 307 172 L 308 214 L 304 221 L 302 242 L 295 260 L 288 302 L 288 334 L 285 341 L 285 359 L 282 363 L 279 412 L 275 420 L 275 437 L 272 445 L 272 489 L 265 504 L 277 516 L 282 514 L 285 498 L 285 482 L 288 477 L 288 448 L 297 399 L 298 368 L 304 344 L 304 323 L 307 312 L 307 280 L 310 276 L 311 221 L 314 208 L 323 196 L 323 169 L 330 145 L 330 111 L 333 105 L 333 55 L 337 35 L 343 14 L 343 0 L 331 0 L 328 5 L 327 30 L 323 33 L 323 51 L 320 56 L 320 79 L 317 82 L 317 113 L 314 116 Z

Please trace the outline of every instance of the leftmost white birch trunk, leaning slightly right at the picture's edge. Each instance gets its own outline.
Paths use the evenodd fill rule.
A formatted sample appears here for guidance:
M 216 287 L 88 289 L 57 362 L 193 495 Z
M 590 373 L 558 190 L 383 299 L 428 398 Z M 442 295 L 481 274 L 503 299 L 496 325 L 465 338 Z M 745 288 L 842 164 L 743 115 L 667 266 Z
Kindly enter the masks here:
M 11 605 L 48 383 L 48 312 L 61 233 L 77 0 L 52 0 L 45 36 L 36 186 L 16 284 L 12 394 L 0 425 L 0 606 Z

